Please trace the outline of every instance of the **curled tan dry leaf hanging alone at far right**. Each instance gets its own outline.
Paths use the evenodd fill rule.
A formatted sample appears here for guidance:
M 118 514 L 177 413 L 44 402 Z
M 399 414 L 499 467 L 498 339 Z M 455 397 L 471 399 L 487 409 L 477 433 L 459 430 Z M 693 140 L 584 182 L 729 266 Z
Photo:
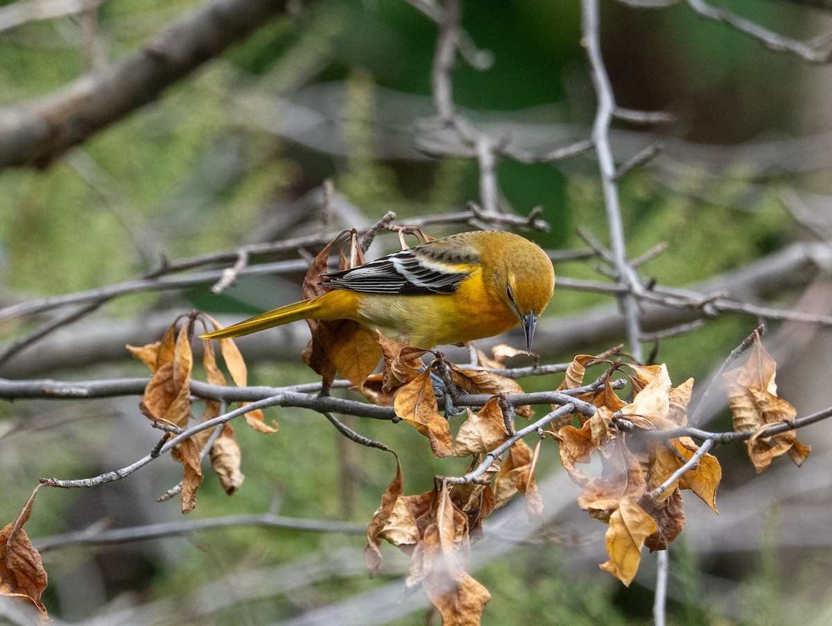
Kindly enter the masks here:
M 794 406 L 777 397 L 775 368 L 775 360 L 763 348 L 760 336 L 755 335 L 754 348 L 745 365 L 723 374 L 734 430 L 754 431 L 745 446 L 758 474 L 785 453 L 795 465 L 801 465 L 811 450 L 800 444 L 795 430 L 765 436 L 770 425 L 790 422 L 797 415 Z

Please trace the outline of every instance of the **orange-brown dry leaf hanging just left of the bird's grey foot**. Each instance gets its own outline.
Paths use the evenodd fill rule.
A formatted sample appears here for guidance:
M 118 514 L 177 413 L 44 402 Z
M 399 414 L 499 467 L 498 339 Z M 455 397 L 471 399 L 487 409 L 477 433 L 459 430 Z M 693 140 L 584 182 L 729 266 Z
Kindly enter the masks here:
M 437 410 L 429 369 L 399 389 L 393 406 L 400 419 L 428 438 L 433 456 L 453 454 L 451 429 L 448 420 Z

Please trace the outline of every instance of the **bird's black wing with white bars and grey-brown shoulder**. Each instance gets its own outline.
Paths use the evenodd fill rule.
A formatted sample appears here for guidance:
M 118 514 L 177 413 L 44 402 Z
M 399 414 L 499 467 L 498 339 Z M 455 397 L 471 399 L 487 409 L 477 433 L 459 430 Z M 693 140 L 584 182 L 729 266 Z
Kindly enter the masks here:
M 453 293 L 479 262 L 473 246 L 454 237 L 384 256 L 377 261 L 321 276 L 332 289 L 384 294 Z

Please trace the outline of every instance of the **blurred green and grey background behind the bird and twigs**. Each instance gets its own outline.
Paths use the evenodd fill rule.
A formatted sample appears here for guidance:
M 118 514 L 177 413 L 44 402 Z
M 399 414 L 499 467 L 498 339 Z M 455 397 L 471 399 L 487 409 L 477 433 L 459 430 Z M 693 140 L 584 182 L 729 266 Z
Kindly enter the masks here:
M 105 72 L 207 4 L 0 2 L 0 105 L 7 107 L 0 144 L 14 128 L 15 107 L 25 110 L 27 102 Z M 641 266 L 657 284 L 727 290 L 755 305 L 830 315 L 832 68 L 773 52 L 702 19 L 686 2 L 649 10 L 627 4 L 601 3 L 602 50 L 617 102 L 675 117 L 612 129 L 618 162 L 661 146 L 618 181 L 629 255 L 666 243 Z M 786 37 L 830 44 L 826 2 L 720 6 Z M 436 115 L 432 7 L 438 5 L 428 0 L 299 5 L 48 166 L 0 171 L 0 305 L 109 286 L 163 258 L 367 227 L 386 211 L 404 221 L 481 202 L 477 160 L 448 154 L 447 137 L 429 123 Z M 589 137 L 596 96 L 580 2 L 469 0 L 462 26 L 478 67 L 457 58 L 458 113 L 532 155 Z M 495 171 L 505 210 L 527 216 L 542 207 L 551 229 L 526 234 L 547 250 L 586 251 L 579 228 L 608 244 L 594 152 L 547 162 L 505 157 Z M 335 191 L 328 211 L 326 180 Z M 442 236 L 467 228 L 425 230 Z M 398 246 L 395 236 L 380 235 L 370 256 Z M 290 251 L 251 262 L 290 258 L 303 256 Z M 596 266 L 592 259 L 556 260 L 555 270 L 563 279 L 607 281 Z M 245 276 L 219 296 L 210 282 L 130 293 L 4 360 L 0 375 L 144 376 L 126 343 L 158 339 L 192 308 L 230 322 L 294 301 L 302 276 Z M 55 315 L 4 320 L 0 337 L 10 345 Z M 668 364 L 674 384 L 693 376 L 700 391 L 758 323 L 755 315 L 655 307 L 645 315 L 651 331 L 702 320 L 656 345 L 656 362 Z M 250 384 L 314 381 L 299 358 L 306 332 L 301 324 L 240 340 Z M 520 345 L 518 335 L 501 340 Z M 556 363 L 623 340 L 612 296 L 558 288 L 535 343 L 544 362 Z M 778 362 L 780 396 L 798 415 L 832 405 L 828 328 L 775 321 L 765 345 Z M 646 353 L 653 347 L 646 344 Z M 511 363 L 527 365 L 520 357 Z M 551 390 L 560 380 L 521 384 Z M 706 427 L 730 430 L 718 404 L 709 407 Z M 344 440 L 310 411 L 270 409 L 266 417 L 280 424 L 277 434 L 235 425 L 245 484 L 228 498 L 208 476 L 189 519 L 273 511 L 366 524 L 394 476 L 392 457 Z M 373 421 L 348 423 L 399 453 L 407 493 L 430 489 L 434 474 L 465 471 L 464 460 L 433 460 L 423 437 L 404 425 Z M 670 624 L 830 623 L 828 431 L 821 423 L 800 432 L 813 448 L 802 468 L 781 458 L 760 477 L 742 446 L 716 450 L 721 513 L 686 494 L 687 526 L 671 546 Z M 127 465 L 158 437 L 134 397 L 2 402 L 0 521 L 17 516 L 38 478 Z M 555 540 L 528 527 L 522 504 L 487 525 L 471 568 L 492 594 L 483 624 L 649 623 L 655 555 L 644 557 L 625 589 L 597 569 L 606 559 L 606 527 L 578 509 L 579 489 L 560 470 L 554 445 L 544 449 L 537 475 Z M 42 491 L 27 532 L 37 545 L 91 526 L 178 521 L 176 499 L 155 499 L 180 476 L 179 464 L 161 459 L 96 489 Z M 369 581 L 364 543 L 360 532 L 250 525 L 107 546 L 58 541 L 43 553 L 50 577 L 44 602 L 52 617 L 72 624 L 340 623 L 325 621 L 334 606 L 352 611 L 354 624 L 425 624 L 422 594 L 399 603 L 407 559 L 385 546 L 384 569 Z

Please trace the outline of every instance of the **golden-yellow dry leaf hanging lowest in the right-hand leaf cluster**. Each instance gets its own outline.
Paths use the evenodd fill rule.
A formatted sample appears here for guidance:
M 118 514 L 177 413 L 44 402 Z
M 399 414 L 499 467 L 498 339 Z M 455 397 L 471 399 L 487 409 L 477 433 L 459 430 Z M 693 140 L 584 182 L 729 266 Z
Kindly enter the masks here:
M 636 504 L 636 499 L 622 499 L 610 515 L 610 527 L 607 529 L 607 554 L 610 559 L 599 567 L 629 587 L 641 562 L 641 547 L 657 528 L 656 521 Z

